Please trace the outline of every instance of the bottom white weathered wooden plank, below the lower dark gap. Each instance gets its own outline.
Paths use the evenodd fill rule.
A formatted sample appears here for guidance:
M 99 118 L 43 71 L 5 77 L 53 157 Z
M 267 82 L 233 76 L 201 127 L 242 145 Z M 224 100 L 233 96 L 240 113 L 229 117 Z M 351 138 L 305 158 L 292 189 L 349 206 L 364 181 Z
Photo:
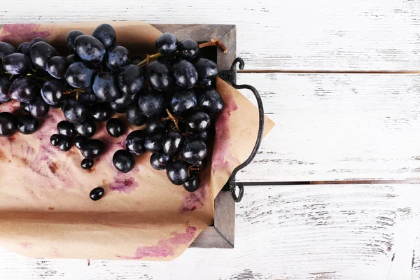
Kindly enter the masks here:
M 0 250 L 1 279 L 418 279 L 419 185 L 248 187 L 234 249 L 173 262 L 39 260 Z M 413 277 L 413 278 L 411 278 Z

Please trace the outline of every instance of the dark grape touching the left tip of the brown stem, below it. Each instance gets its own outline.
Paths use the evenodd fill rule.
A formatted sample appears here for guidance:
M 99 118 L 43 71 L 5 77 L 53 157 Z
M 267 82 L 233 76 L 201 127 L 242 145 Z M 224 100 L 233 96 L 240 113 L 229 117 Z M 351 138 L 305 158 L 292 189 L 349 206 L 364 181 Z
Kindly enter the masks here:
M 137 65 L 127 65 L 118 76 L 118 86 L 123 94 L 132 95 L 141 92 L 145 84 L 145 73 Z

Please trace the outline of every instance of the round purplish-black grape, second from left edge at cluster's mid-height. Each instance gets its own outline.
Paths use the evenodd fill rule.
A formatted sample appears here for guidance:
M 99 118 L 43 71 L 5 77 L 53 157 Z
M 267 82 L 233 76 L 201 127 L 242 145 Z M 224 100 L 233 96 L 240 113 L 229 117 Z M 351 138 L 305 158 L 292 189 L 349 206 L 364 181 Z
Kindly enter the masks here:
M 15 78 L 9 87 L 9 96 L 16 102 L 29 102 L 39 90 L 35 80 L 29 77 Z

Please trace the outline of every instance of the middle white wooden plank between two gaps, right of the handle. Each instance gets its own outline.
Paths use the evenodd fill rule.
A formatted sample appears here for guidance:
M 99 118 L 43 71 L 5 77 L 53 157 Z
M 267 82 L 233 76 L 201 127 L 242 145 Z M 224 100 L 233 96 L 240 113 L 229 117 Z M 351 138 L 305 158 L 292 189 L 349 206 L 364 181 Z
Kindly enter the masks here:
M 241 181 L 420 177 L 419 75 L 240 73 L 238 83 L 260 90 L 276 123 Z

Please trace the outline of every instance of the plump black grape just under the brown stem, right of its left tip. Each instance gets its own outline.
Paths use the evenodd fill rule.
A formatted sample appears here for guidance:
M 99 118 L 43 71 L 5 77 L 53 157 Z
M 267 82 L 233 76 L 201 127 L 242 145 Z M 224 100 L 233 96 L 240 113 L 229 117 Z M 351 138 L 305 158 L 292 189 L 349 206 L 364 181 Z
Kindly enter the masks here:
M 171 86 L 171 75 L 165 63 L 154 61 L 146 66 L 146 79 L 153 89 L 163 92 Z

